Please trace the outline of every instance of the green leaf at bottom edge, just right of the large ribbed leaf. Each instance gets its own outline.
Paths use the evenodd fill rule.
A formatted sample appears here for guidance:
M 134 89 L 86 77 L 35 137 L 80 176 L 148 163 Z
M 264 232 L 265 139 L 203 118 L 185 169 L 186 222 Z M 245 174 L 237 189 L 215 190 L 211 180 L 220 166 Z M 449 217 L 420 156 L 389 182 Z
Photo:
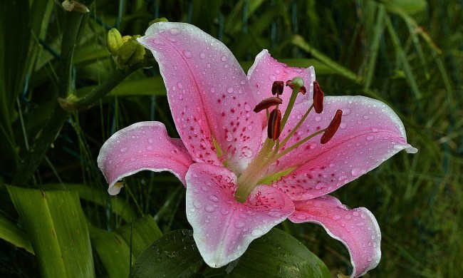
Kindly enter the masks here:
M 90 227 L 92 247 L 111 278 L 126 278 L 130 273 L 130 243 L 117 232 Z M 135 257 L 132 255 L 132 262 Z

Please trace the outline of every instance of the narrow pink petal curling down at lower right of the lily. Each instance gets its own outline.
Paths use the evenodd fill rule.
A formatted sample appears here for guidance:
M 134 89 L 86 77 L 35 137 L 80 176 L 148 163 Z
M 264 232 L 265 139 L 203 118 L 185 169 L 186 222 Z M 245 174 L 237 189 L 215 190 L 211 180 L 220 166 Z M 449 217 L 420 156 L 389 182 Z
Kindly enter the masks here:
M 348 248 L 353 272 L 362 276 L 381 259 L 381 232 L 375 216 L 365 207 L 349 210 L 332 196 L 295 202 L 296 211 L 288 217 L 294 223 L 311 222 L 323 226 L 328 235 Z

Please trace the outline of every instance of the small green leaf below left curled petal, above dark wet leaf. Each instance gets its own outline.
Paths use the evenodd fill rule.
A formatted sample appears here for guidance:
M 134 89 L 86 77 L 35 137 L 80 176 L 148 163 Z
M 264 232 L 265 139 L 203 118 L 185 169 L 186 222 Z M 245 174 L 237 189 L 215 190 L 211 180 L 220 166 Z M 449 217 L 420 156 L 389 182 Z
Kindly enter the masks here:
M 162 232 L 151 215 L 135 220 L 133 225 L 124 225 L 116 232 L 123 237 L 125 242 L 132 242 L 132 254 L 135 257 L 140 256 L 146 247 L 162 237 Z

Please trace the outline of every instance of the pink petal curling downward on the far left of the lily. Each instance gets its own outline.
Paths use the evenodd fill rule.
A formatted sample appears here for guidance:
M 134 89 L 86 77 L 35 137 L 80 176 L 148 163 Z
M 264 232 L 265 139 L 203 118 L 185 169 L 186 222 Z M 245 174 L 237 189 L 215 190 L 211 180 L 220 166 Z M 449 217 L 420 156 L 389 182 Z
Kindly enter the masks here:
M 159 122 L 140 122 L 114 133 L 101 147 L 98 167 L 109 183 L 110 195 L 122 186 L 115 183 L 141 170 L 169 171 L 185 185 L 192 157 L 180 139 L 167 135 Z

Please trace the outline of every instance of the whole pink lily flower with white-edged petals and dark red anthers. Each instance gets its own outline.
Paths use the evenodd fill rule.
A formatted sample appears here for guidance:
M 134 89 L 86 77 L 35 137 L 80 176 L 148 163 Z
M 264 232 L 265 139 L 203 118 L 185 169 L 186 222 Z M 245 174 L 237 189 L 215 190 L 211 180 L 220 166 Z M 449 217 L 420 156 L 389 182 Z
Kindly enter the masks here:
M 391 108 L 362 96 L 323 98 L 315 83 L 313 111 L 313 67 L 289 67 L 264 50 L 246 76 L 223 43 L 189 24 L 158 22 L 138 41 L 159 63 L 180 139 L 159 122 L 111 136 L 98 156 L 111 195 L 120 191 L 118 180 L 140 170 L 176 175 L 210 267 L 238 259 L 286 218 L 322 225 L 343 242 L 352 277 L 378 265 L 381 234 L 373 214 L 328 194 L 400 150 L 416 153 Z

